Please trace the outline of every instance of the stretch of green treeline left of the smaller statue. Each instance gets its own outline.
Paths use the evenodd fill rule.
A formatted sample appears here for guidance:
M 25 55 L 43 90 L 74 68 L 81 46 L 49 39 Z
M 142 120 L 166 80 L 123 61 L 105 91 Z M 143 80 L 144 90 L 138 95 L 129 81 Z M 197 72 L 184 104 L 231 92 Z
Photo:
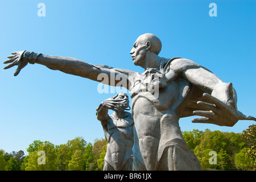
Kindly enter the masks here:
M 82 137 L 68 140 L 66 144 L 54 145 L 48 141 L 34 140 L 23 151 L 10 154 L 0 150 L 2 171 L 97 171 L 103 169 L 106 139 L 87 143 Z

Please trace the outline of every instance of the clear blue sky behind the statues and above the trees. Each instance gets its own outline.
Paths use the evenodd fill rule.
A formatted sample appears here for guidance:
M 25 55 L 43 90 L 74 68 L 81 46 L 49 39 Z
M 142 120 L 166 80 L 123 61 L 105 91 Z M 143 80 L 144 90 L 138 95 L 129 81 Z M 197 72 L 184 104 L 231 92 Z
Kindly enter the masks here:
M 38 3 L 46 16 L 39 17 Z M 217 17 L 209 4 L 217 4 Z M 210 69 L 238 94 L 238 109 L 256 116 L 256 1 L 0 1 L 0 60 L 13 51 L 75 57 L 91 64 L 143 72 L 130 50 L 147 32 L 162 41 L 162 57 L 184 57 Z M 99 94 L 98 82 L 27 65 L 0 64 L 0 148 L 23 150 L 33 140 L 63 144 L 75 137 L 103 138 L 95 108 L 114 93 Z M 234 127 L 180 120 L 193 129 L 241 133 L 255 122 Z

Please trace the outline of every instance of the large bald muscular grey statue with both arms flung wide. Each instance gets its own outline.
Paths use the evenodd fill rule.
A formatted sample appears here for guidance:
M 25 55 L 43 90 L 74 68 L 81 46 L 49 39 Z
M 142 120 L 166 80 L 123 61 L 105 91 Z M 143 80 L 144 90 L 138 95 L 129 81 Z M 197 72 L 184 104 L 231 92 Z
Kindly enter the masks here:
M 13 52 L 4 63 L 9 63 L 5 69 L 18 66 L 14 76 L 28 63 L 37 63 L 103 84 L 125 87 L 132 99 L 133 169 L 201 170 L 198 159 L 182 137 L 179 118 L 199 115 L 192 122 L 219 126 L 234 126 L 239 119 L 256 121 L 256 118 L 238 111 L 237 94 L 231 83 L 223 82 L 194 61 L 160 57 L 161 48 L 161 41 L 153 34 L 143 34 L 135 41 L 130 54 L 135 65 L 145 68 L 142 74 L 29 51 Z

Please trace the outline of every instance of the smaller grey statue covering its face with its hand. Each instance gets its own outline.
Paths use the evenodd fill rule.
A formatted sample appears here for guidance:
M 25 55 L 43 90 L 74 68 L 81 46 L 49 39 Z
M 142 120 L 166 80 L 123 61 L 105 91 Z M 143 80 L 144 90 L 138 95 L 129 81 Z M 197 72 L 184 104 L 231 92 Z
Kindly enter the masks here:
M 97 119 L 101 121 L 107 152 L 103 171 L 133 170 L 133 117 L 126 112 L 129 98 L 125 93 L 119 93 L 103 101 L 97 110 Z M 109 109 L 115 112 L 107 114 Z

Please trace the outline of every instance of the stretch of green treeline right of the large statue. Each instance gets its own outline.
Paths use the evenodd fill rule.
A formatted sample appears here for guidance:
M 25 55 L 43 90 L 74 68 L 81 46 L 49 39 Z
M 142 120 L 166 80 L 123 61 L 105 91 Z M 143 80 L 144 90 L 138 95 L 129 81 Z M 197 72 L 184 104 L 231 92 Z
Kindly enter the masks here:
M 182 134 L 203 169 L 254 171 L 256 170 L 255 126 L 250 126 L 243 133 L 193 130 L 183 131 Z

